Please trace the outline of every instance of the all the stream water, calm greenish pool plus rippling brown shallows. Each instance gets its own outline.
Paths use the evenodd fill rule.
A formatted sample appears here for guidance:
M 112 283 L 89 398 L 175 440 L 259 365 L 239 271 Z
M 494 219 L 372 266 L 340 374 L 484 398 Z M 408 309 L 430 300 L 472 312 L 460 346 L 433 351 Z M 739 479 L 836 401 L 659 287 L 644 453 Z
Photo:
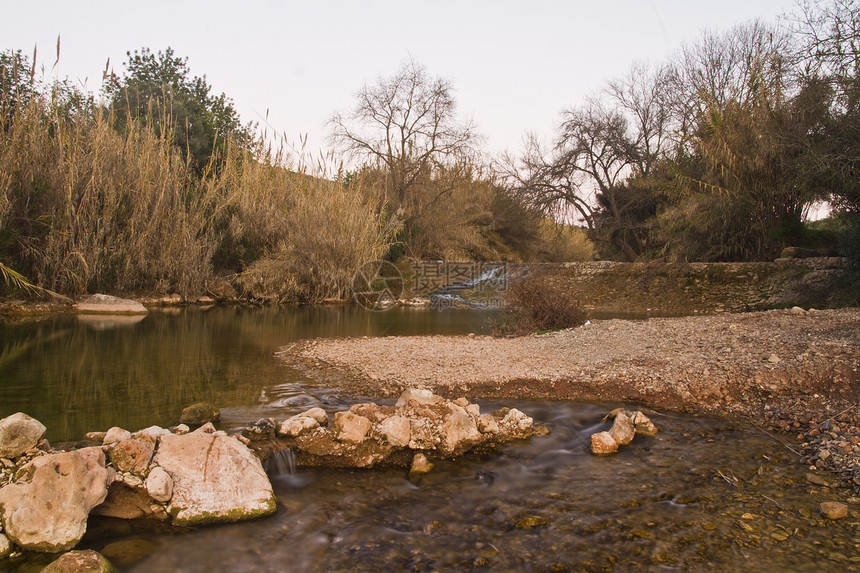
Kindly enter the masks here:
M 213 308 L 2 325 L 0 417 L 27 412 L 56 442 L 113 425 L 172 425 L 195 401 L 220 406 L 228 430 L 312 406 L 333 412 L 361 400 L 310 384 L 272 353 L 317 336 L 486 332 L 489 316 Z M 479 403 L 484 412 L 501 405 Z M 596 457 L 589 436 L 608 428 L 601 419 L 618 404 L 504 405 L 550 433 L 439 463 L 417 480 L 296 469 L 285 456 L 270 468 L 274 516 L 200 529 L 91 519 L 83 546 L 140 572 L 860 569 L 856 513 L 829 521 L 818 511 L 843 494 L 810 484 L 808 468 L 754 426 L 648 411 L 657 437 Z

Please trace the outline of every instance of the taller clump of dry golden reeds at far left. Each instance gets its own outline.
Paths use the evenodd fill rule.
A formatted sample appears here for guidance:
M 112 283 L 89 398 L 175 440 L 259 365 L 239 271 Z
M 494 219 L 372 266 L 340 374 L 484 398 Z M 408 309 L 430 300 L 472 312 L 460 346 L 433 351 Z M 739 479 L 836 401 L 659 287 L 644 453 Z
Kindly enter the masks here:
M 6 247 L 40 286 L 202 291 L 213 237 L 186 162 L 146 125 L 125 134 L 94 107 L 32 100 L 3 126 Z

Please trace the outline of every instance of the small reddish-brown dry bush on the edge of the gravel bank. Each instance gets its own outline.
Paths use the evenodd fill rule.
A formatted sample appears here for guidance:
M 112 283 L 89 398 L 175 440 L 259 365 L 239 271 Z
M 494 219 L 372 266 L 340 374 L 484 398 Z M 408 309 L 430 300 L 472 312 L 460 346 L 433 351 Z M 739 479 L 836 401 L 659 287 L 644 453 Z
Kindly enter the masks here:
M 498 322 L 496 336 L 523 336 L 534 332 L 580 326 L 588 314 L 565 286 L 557 270 L 540 269 L 514 279 L 508 287 L 510 309 Z

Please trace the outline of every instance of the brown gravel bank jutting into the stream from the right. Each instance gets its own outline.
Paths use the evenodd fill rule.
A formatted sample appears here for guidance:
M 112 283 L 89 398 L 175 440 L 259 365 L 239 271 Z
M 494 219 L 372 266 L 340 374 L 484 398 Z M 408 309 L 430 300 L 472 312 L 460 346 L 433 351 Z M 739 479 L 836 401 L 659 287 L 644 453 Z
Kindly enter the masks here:
M 860 486 L 860 309 L 606 320 L 521 338 L 327 339 L 280 356 L 362 396 L 636 402 L 791 432 L 804 461 Z M 821 451 L 828 450 L 831 455 Z M 832 455 L 836 454 L 836 455 Z

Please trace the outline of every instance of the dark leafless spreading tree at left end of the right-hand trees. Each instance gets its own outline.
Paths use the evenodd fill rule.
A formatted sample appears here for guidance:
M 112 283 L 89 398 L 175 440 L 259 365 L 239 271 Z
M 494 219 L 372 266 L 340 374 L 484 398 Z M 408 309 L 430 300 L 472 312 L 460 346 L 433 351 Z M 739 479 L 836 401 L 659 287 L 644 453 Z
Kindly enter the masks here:
M 519 159 L 504 158 L 508 187 L 549 215 L 583 221 L 593 240 L 637 258 L 641 193 L 627 182 L 650 175 L 664 156 L 672 120 L 668 73 L 636 65 L 600 97 L 563 112 L 552 147 L 530 136 Z

